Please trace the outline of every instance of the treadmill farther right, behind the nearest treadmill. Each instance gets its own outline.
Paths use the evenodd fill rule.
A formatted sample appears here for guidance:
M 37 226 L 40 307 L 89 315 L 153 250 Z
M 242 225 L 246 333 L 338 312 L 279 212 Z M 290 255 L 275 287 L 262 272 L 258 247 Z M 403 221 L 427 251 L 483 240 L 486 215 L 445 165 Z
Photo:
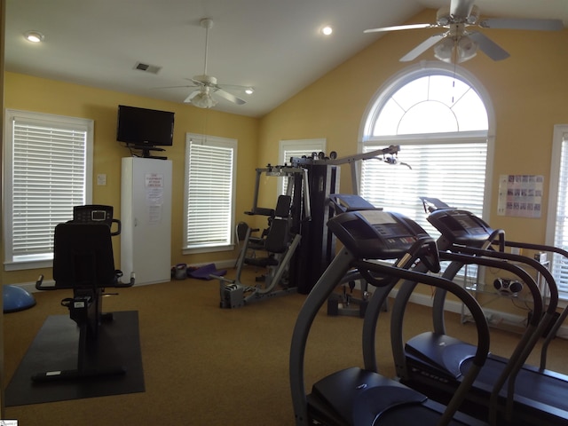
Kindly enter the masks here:
M 500 425 L 568 424 L 568 376 L 544 367 L 546 348 L 562 320 L 554 323 L 557 317 L 558 291 L 548 269 L 529 257 L 505 253 L 505 246 L 519 247 L 519 244 L 505 241 L 502 231 L 494 231 L 482 219 L 466 210 L 438 209 L 430 214 L 428 220 L 442 234 L 438 239 L 438 248 L 442 250 L 440 257 L 452 262 L 443 274 L 446 279 L 454 279 L 464 264 L 485 264 L 515 273 L 533 296 L 533 315 L 516 350 L 509 359 L 489 355 L 485 367 L 466 396 L 463 411 L 477 418 L 489 418 L 492 424 Z M 496 243 L 499 244 L 499 251 L 492 249 Z M 520 246 L 564 254 L 564 250 L 548 246 Z M 493 265 L 495 261 L 501 265 Z M 549 296 L 545 312 L 533 277 L 526 276 L 525 270 L 513 263 L 534 268 L 546 281 Z M 398 296 L 401 299 L 408 297 L 412 288 L 412 283 L 405 283 Z M 393 353 L 401 383 L 440 402 L 452 398 L 462 375 L 468 371 L 475 350 L 474 346 L 446 335 L 443 319 L 445 298 L 443 291 L 434 296 L 434 332 L 414 336 L 406 342 L 404 349 L 399 319 L 402 308 L 397 306 L 402 301 L 395 301 L 391 319 Z M 540 367 L 525 365 L 535 344 L 542 335 L 547 335 L 546 330 L 552 324 L 554 326 L 548 332 L 547 342 L 541 352 Z

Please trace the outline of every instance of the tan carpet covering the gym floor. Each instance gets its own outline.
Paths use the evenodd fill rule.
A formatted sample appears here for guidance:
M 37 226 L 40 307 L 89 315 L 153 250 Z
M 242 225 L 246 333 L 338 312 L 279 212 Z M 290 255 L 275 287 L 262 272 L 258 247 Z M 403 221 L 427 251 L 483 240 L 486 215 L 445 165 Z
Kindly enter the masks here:
M 232 272 L 229 272 L 229 276 Z M 106 312 L 136 310 L 146 392 L 103 398 L 13 406 L 6 417 L 21 425 L 273 425 L 294 423 L 288 386 L 288 349 L 305 296 L 272 298 L 241 309 L 219 308 L 215 280 L 176 280 L 120 289 L 104 299 Z M 64 314 L 66 291 L 36 294 L 36 307 L 4 315 L 5 376 L 10 380 L 48 315 Z M 407 336 L 429 324 L 429 309 L 412 305 Z M 473 339 L 472 325 L 446 319 L 449 333 Z M 316 319 L 306 356 L 306 385 L 343 367 L 361 366 L 362 320 Z M 393 375 L 389 314 L 378 328 L 379 366 Z M 506 354 L 517 335 L 494 330 L 492 349 Z M 564 368 L 568 343 L 550 348 L 552 368 Z M 533 361 L 536 362 L 536 361 Z M 562 370 L 560 370 L 562 371 Z

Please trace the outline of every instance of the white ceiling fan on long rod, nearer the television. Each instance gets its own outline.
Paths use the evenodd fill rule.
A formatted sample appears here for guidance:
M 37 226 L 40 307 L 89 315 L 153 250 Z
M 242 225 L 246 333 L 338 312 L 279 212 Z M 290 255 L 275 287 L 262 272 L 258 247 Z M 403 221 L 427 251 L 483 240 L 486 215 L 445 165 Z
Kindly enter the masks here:
M 191 103 L 194 106 L 200 108 L 211 108 L 217 105 L 217 99 L 213 95 L 217 95 L 223 99 L 233 102 L 237 105 L 243 105 L 246 103 L 245 100 L 237 98 L 232 93 L 225 91 L 225 89 L 233 89 L 245 91 L 247 94 L 252 94 L 254 89 L 249 86 L 238 86 L 233 84 L 217 84 L 217 78 L 212 75 L 207 74 L 207 55 L 209 49 L 209 29 L 213 27 L 213 20 L 209 18 L 204 18 L 200 21 L 201 27 L 205 28 L 205 60 L 203 66 L 203 74 L 195 75 L 190 80 L 193 84 L 186 86 L 174 86 L 174 87 L 194 87 L 195 91 L 189 94 L 185 98 L 185 103 Z

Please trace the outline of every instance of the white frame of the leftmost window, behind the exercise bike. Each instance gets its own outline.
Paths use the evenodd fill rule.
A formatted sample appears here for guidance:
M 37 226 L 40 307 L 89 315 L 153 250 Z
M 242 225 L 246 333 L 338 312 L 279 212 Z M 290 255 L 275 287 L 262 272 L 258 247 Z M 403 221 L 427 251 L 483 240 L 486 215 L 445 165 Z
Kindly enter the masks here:
M 14 185 L 14 134 L 13 122 L 35 123 L 37 125 L 53 127 L 61 130 L 78 130 L 85 132 L 85 164 L 84 164 L 84 201 L 83 204 L 92 202 L 92 173 L 93 173 L 93 133 L 94 121 L 87 118 L 71 117 L 57 114 L 44 114 L 17 109 L 6 109 L 4 116 L 4 185 L 3 185 L 3 212 L 4 212 L 4 270 L 20 271 L 37 268 L 51 267 L 53 253 L 29 256 L 26 259 L 18 259 L 13 250 L 13 185 Z M 73 218 L 73 209 L 69 210 L 69 219 Z

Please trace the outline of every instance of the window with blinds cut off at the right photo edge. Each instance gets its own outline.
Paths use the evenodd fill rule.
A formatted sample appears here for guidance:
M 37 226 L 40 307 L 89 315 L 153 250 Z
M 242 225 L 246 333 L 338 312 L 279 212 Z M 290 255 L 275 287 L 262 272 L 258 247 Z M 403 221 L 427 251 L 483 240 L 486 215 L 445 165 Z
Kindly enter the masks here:
M 568 250 L 568 125 L 555 127 L 550 169 L 547 243 Z M 552 275 L 568 300 L 568 259 L 554 254 Z

